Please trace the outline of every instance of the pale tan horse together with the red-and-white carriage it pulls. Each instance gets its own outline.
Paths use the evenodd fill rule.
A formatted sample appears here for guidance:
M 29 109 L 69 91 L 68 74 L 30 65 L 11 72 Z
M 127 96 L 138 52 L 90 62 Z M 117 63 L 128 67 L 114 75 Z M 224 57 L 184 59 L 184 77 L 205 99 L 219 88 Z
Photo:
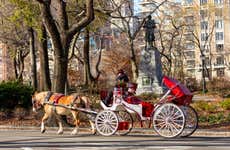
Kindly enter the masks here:
M 91 118 L 89 121 L 92 132 L 97 131 L 104 136 L 110 136 L 115 133 L 118 135 L 128 134 L 134 125 L 133 114 L 137 116 L 141 126 L 143 121 L 148 120 L 149 127 L 153 126 L 155 131 L 163 137 L 190 136 L 198 126 L 197 113 L 190 106 L 193 97 L 192 93 L 177 80 L 167 76 L 163 77 L 162 83 L 167 87 L 167 91 L 155 104 L 142 101 L 134 95 L 125 96 L 122 88 L 115 88 L 111 106 L 105 105 L 103 102 L 104 97 L 101 97 L 100 104 L 103 110 L 100 112 L 93 111 L 89 107 L 77 107 L 75 105 L 76 96 L 75 98 L 73 98 L 74 96 L 59 97 L 60 100 L 57 102 L 57 98 L 52 98 L 49 92 L 35 94 L 32 99 L 33 108 L 38 105 L 44 105 L 45 115 L 41 123 L 42 133 L 45 131 L 44 122 L 52 112 L 60 115 L 69 111 L 76 120 L 76 127 L 72 132 L 72 134 L 76 134 L 78 131 L 77 113 L 81 111 L 87 113 Z M 84 100 L 86 105 L 88 103 L 86 97 L 78 96 L 77 99 Z M 63 128 L 59 119 L 58 134 L 61 133 L 63 133 Z

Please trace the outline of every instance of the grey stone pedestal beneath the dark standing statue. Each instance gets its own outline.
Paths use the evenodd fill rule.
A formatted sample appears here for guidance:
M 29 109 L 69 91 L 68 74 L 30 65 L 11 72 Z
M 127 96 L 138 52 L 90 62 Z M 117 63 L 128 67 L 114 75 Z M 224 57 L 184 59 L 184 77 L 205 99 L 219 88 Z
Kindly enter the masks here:
M 149 47 L 142 51 L 138 69 L 137 95 L 142 93 L 162 94 L 162 66 L 160 52 L 156 47 Z

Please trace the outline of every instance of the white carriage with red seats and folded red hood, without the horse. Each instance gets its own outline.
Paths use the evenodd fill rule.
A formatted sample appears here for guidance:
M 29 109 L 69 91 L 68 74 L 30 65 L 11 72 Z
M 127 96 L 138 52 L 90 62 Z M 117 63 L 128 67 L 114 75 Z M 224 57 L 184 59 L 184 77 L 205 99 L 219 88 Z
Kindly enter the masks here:
M 104 136 L 128 134 L 133 128 L 131 114 L 136 114 L 141 125 L 149 120 L 155 131 L 163 137 L 191 135 L 198 126 L 196 111 L 189 105 L 192 93 L 177 80 L 163 77 L 163 84 L 168 88 L 163 97 L 155 104 L 138 99 L 135 96 L 124 98 L 122 88 L 115 88 L 113 103 L 106 106 L 95 119 L 97 131 Z

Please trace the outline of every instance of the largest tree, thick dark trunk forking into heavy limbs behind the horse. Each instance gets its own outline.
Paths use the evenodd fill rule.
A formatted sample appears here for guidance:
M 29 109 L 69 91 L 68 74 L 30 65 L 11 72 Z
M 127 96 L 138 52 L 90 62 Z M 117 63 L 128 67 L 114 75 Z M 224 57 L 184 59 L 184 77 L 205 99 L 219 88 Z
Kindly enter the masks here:
M 79 12 L 79 18 L 70 24 L 67 5 L 64 0 L 37 0 L 42 18 L 52 40 L 54 49 L 53 91 L 64 92 L 67 81 L 68 53 L 74 35 L 94 19 L 93 0 L 86 0 L 85 7 Z M 78 1 L 76 2 L 78 5 Z M 76 15 L 76 16 L 78 16 Z

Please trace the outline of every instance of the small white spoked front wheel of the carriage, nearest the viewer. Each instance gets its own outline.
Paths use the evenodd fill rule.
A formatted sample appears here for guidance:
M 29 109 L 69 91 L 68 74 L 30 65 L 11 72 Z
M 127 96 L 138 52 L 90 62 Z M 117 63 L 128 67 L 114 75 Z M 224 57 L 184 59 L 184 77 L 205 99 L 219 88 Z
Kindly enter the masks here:
M 101 135 L 113 135 L 118 129 L 118 117 L 113 111 L 101 111 L 96 116 L 95 125 Z

